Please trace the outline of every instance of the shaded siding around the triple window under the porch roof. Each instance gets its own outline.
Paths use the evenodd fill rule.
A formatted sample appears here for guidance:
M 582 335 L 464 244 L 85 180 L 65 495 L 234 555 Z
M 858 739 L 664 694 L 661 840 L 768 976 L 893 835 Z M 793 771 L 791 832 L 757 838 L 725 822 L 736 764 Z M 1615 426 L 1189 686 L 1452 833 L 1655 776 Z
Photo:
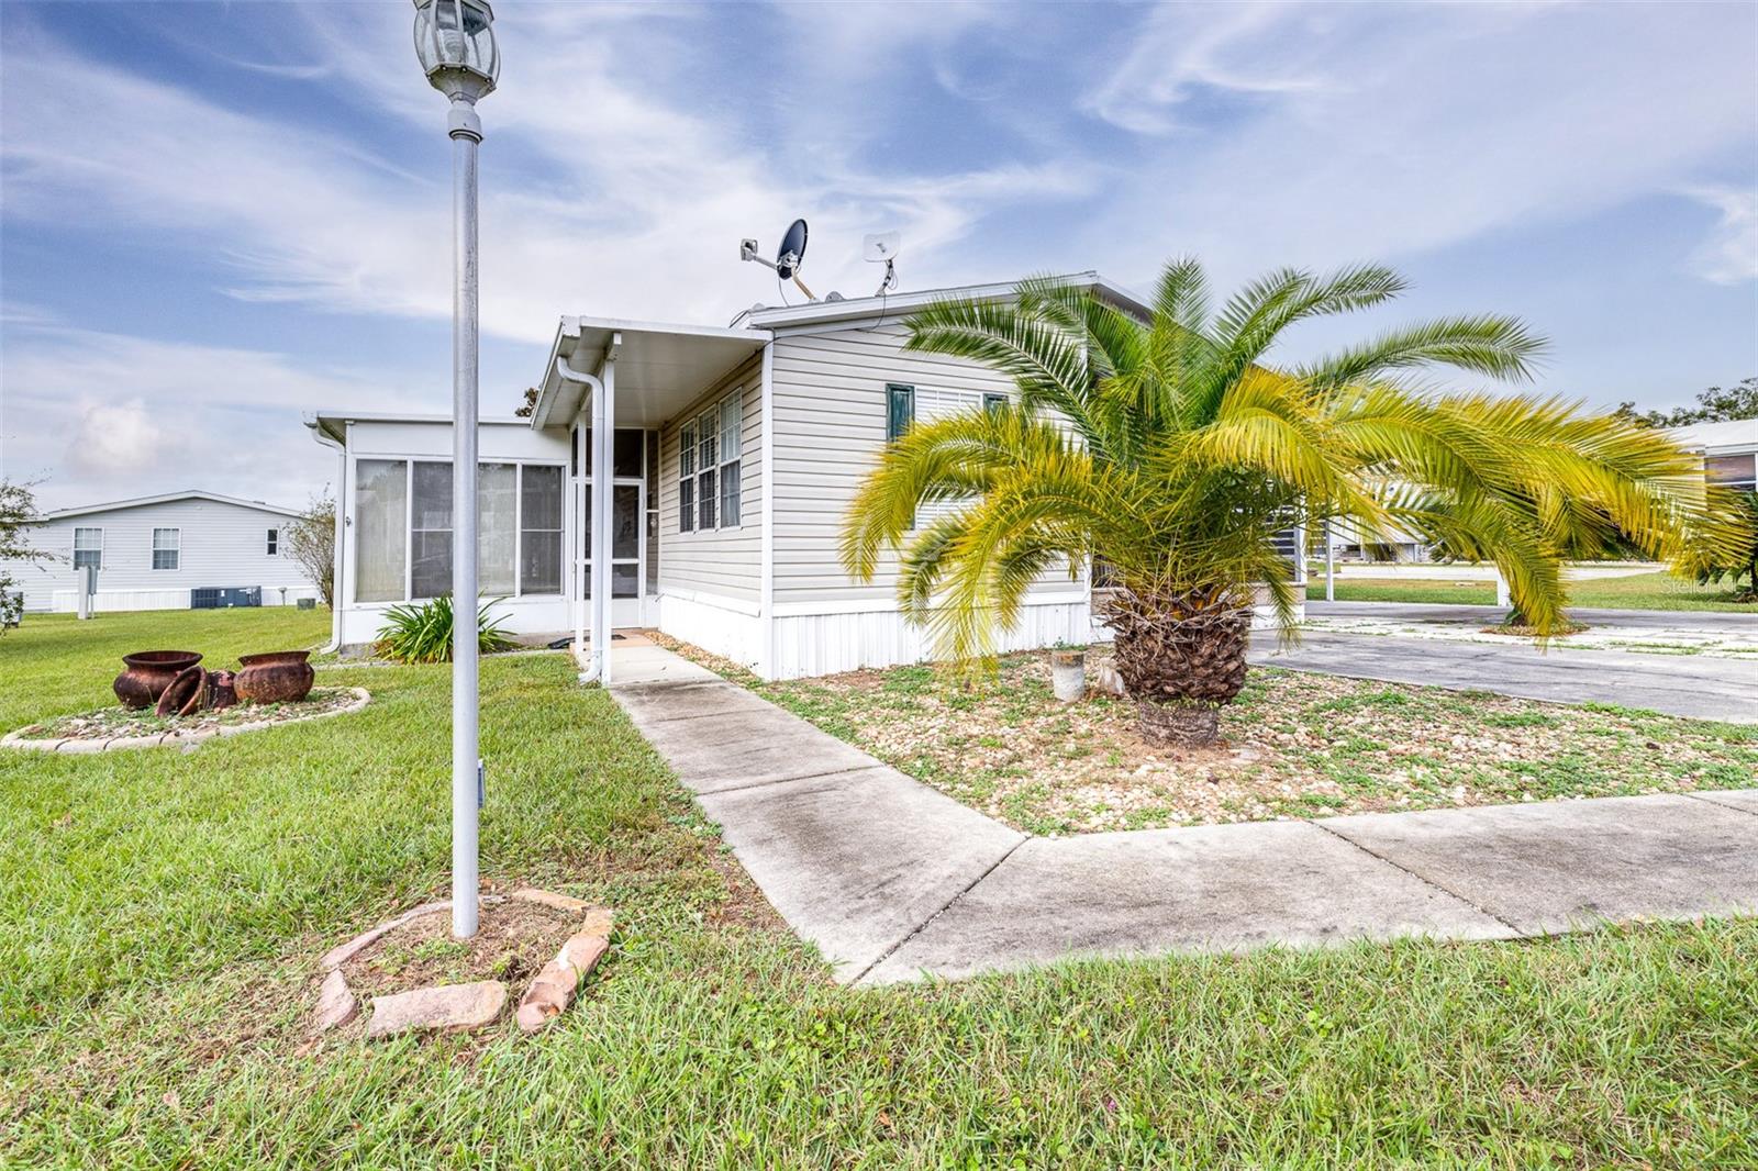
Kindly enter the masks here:
M 763 385 L 761 364 L 752 359 L 707 394 L 689 404 L 659 431 L 657 492 L 659 578 L 657 591 L 680 596 L 710 594 L 756 601 L 761 584 L 763 526 L 756 524 L 763 498 Z M 712 515 L 716 527 L 701 527 L 701 424 L 714 425 Z M 737 450 L 728 450 L 737 431 Z M 684 436 L 691 448 L 684 455 Z M 687 473 L 686 473 L 687 468 Z M 730 498 L 724 476 L 733 476 L 737 498 Z M 728 520 L 726 505 L 737 506 Z M 689 503 L 691 526 L 684 526 Z M 649 557 L 652 550 L 649 549 Z

